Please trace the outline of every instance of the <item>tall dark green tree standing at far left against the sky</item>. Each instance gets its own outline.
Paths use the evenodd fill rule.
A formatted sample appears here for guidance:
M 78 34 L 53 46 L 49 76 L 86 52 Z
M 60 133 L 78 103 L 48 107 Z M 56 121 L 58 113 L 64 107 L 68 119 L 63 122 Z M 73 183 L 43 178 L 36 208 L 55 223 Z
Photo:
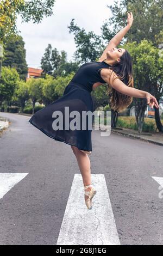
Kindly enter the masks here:
M 12 36 L 4 48 L 4 60 L 2 66 L 15 68 L 20 75 L 20 79 L 26 81 L 28 66 L 26 62 L 26 50 L 22 36 L 16 38 Z

